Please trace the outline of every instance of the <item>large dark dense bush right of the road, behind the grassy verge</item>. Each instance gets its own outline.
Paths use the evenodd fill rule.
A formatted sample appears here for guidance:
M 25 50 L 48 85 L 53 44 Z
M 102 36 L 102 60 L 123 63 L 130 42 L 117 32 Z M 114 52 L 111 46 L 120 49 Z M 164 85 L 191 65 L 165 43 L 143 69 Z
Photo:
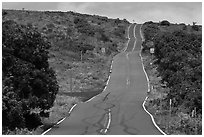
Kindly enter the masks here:
M 175 107 L 190 113 L 202 111 L 202 38 L 183 31 L 164 33 L 154 41 L 155 57 L 162 80 L 170 88 Z

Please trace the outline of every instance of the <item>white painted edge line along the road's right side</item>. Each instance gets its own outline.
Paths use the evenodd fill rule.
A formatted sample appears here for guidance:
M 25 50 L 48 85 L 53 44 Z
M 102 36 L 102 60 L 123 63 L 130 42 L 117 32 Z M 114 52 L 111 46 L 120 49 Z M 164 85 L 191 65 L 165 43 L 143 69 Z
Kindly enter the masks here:
M 143 38 L 143 35 L 142 35 L 142 32 L 141 32 L 141 28 L 142 28 L 142 25 L 141 25 L 141 27 L 140 27 L 140 35 L 141 35 L 141 37 L 142 37 L 142 41 L 144 41 L 144 38 Z M 142 61 L 142 68 L 143 68 L 143 71 L 144 71 L 144 73 L 145 73 L 145 76 L 146 76 L 146 79 L 147 79 L 147 83 L 148 83 L 148 92 L 150 92 L 149 78 L 148 78 L 147 73 L 146 73 L 146 71 L 145 71 L 145 69 L 144 69 L 144 65 L 143 65 L 143 60 L 142 60 L 142 55 L 141 55 L 141 53 L 142 53 L 142 45 L 141 45 L 141 50 L 140 50 L 140 57 L 141 57 L 141 61 Z M 147 111 L 147 109 L 145 108 L 145 103 L 146 103 L 146 100 L 147 100 L 147 99 L 148 99 L 148 96 L 146 96 L 144 102 L 142 103 L 143 109 L 145 110 L 145 112 L 146 112 L 147 114 L 150 115 L 151 120 L 152 120 L 154 126 L 155 126 L 163 135 L 167 135 L 164 131 L 162 131 L 162 130 L 160 129 L 160 127 L 156 124 L 156 122 L 155 122 L 154 117 L 152 116 L 152 114 L 149 113 L 149 111 Z

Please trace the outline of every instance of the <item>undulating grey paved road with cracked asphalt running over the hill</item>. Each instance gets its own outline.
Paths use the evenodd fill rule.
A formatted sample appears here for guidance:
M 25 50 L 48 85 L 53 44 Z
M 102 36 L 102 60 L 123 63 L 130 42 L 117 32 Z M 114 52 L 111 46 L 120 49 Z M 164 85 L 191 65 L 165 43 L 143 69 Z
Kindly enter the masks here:
M 148 85 L 139 56 L 140 27 L 136 24 L 129 27 L 128 46 L 114 57 L 106 90 L 78 104 L 69 118 L 47 134 L 161 135 L 142 108 Z

